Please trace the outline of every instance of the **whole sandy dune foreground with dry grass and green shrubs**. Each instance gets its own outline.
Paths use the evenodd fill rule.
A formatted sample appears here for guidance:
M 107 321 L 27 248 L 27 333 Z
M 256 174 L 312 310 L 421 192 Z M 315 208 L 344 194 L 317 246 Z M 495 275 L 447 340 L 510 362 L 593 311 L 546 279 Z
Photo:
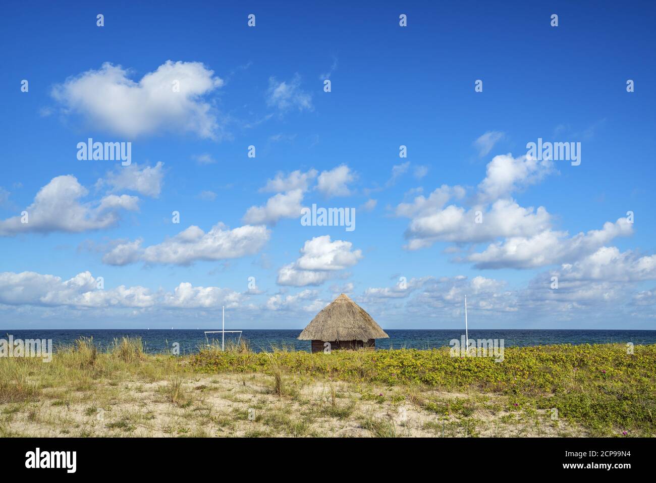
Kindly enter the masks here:
M 655 368 L 656 345 L 506 348 L 496 363 L 247 341 L 174 356 L 81 338 L 48 363 L 0 358 L 0 435 L 655 436 Z

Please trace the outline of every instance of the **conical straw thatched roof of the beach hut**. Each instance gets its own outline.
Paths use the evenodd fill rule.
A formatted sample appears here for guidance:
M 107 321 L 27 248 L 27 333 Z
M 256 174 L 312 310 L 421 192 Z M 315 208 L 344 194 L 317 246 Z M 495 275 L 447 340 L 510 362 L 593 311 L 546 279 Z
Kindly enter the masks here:
M 343 293 L 319 312 L 300 333 L 301 341 L 368 341 L 388 339 L 375 320 Z

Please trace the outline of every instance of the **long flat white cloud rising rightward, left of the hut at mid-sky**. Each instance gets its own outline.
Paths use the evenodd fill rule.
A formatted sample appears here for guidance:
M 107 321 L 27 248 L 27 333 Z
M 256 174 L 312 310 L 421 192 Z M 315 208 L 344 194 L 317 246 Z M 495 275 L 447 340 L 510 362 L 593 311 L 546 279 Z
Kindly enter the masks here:
M 254 255 L 270 237 L 264 226 L 239 226 L 230 230 L 218 223 L 205 233 L 190 226 L 158 245 L 142 247 L 142 240 L 119 243 L 108 251 L 102 261 L 110 265 L 125 265 L 142 261 L 146 264 L 188 265 L 195 261 L 217 261 Z

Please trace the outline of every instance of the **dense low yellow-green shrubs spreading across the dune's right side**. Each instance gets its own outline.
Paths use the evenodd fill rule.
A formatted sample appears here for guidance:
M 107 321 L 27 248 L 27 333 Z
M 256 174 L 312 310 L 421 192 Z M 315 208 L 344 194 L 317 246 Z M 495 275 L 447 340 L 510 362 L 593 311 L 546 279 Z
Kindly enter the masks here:
M 422 385 L 441 390 L 476 389 L 504 394 L 508 411 L 548 410 L 593 434 L 656 432 L 656 345 L 552 345 L 506 348 L 504 361 L 451 357 L 449 350 L 333 351 L 331 354 L 276 351 L 201 351 L 197 371 L 281 371 L 390 386 Z M 365 394 L 382 402 L 382 394 Z M 420 405 L 440 414 L 472 415 L 476 404 L 438 401 Z M 558 412 L 556 413 L 557 410 Z

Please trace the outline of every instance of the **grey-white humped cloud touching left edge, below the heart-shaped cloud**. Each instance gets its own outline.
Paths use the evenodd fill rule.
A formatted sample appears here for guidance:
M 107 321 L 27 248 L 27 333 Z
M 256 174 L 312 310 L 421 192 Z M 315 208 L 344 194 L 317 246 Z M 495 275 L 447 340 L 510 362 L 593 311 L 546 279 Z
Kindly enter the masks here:
M 136 196 L 112 194 L 100 200 L 81 202 L 87 194 L 88 190 L 74 176 L 55 177 L 39 190 L 34 201 L 24 210 L 28 212 L 28 222 L 22 222 L 21 216 L 0 221 L 0 236 L 99 230 L 115 225 L 121 210 L 138 209 Z

